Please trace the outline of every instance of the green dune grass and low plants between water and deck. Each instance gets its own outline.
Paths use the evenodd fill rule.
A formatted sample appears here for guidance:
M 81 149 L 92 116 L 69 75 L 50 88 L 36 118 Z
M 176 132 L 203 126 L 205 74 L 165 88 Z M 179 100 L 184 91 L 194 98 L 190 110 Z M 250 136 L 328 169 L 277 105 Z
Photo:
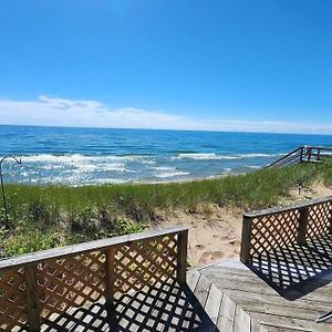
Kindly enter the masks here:
M 332 185 L 332 163 L 301 164 L 247 175 L 168 184 L 103 186 L 8 185 L 10 227 L 0 229 L 2 257 L 112 237 L 158 221 L 158 210 L 210 204 L 256 209 L 278 204 L 298 184 Z M 2 224 L 4 216 L 2 214 Z

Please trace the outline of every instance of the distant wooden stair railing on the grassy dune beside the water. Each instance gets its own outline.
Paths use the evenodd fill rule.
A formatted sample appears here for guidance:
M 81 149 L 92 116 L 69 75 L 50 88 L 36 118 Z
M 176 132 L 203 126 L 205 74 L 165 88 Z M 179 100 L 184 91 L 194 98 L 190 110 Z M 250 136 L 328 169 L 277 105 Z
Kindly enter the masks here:
M 277 159 L 266 168 L 284 167 L 300 163 L 322 163 L 326 158 L 332 158 L 332 147 L 303 145 Z

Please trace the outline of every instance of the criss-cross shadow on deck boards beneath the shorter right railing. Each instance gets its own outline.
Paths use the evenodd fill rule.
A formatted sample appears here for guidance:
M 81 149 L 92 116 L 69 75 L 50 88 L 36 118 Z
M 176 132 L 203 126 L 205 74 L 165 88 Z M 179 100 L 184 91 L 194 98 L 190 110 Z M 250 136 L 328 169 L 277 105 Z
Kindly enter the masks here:
M 253 256 L 247 266 L 280 295 L 295 300 L 330 282 L 324 276 L 332 272 L 332 237 Z

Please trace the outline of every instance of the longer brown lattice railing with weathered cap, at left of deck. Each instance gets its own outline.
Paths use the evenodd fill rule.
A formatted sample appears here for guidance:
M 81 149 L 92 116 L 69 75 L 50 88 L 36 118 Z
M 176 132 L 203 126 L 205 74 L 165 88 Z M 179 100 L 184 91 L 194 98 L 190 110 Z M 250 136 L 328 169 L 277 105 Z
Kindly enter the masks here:
M 40 331 L 72 308 L 185 283 L 187 236 L 176 227 L 0 261 L 0 330 Z

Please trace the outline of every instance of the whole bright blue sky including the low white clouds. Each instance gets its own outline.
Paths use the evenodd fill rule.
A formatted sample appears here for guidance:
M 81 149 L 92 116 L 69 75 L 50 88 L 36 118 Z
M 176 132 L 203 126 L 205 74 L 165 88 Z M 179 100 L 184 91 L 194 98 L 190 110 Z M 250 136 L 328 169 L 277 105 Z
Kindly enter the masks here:
M 332 134 L 328 0 L 3 0 L 0 123 Z

